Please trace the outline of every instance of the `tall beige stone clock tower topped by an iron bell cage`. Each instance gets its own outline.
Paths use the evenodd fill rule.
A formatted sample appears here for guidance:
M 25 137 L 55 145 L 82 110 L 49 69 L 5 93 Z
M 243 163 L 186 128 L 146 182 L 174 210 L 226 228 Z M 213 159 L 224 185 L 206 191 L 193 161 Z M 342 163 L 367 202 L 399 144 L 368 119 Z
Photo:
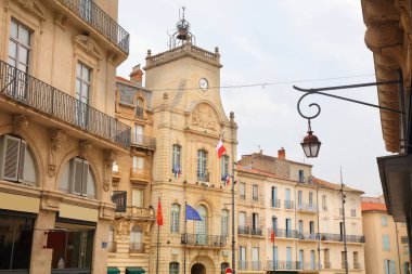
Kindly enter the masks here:
M 183 10 L 184 12 L 184 10 Z M 223 178 L 236 161 L 234 114 L 228 117 L 220 97 L 220 53 L 196 47 L 183 17 L 170 37 L 169 50 L 147 51 L 145 87 L 152 91 L 152 205 L 160 199 L 164 225 L 159 231 L 159 273 L 220 272 L 232 262 L 231 187 Z M 222 139 L 226 153 L 218 157 Z M 202 221 L 184 221 L 185 204 Z M 152 230 L 150 272 L 155 273 L 157 227 Z

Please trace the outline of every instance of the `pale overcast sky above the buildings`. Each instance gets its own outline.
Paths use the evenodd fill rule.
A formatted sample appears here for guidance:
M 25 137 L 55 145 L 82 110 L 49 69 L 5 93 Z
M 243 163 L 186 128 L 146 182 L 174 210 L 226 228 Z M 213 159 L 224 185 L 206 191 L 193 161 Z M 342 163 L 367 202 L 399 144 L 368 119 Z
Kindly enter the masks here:
M 117 75 L 128 78 L 132 66 L 144 66 L 147 49 L 153 54 L 168 50 L 168 34 L 175 31 L 182 5 L 196 45 L 220 49 L 221 86 L 286 81 L 317 88 L 375 81 L 360 0 L 119 0 L 119 24 L 131 38 L 129 58 Z M 360 77 L 299 82 L 347 76 Z M 377 103 L 376 88 L 334 93 Z M 339 183 L 342 166 L 346 184 L 382 194 L 376 157 L 388 153 L 378 109 L 308 96 L 304 102 L 322 107 L 312 120 L 322 147 L 319 158 L 305 159 L 300 141 L 307 120 L 296 110 L 301 94 L 292 83 L 221 89 L 226 113 L 234 112 L 239 125 L 239 157 L 259 147 L 276 156 L 284 147 L 287 159 L 313 165 L 318 178 Z M 302 112 L 312 114 L 307 105 Z

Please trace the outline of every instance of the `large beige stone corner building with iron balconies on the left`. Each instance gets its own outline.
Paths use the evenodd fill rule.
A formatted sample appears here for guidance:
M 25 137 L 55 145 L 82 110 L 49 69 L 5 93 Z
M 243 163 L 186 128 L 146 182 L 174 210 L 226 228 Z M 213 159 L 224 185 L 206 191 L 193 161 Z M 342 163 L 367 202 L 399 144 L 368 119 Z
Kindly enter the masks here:
M 0 2 L 0 273 L 105 273 L 129 34 L 114 1 Z

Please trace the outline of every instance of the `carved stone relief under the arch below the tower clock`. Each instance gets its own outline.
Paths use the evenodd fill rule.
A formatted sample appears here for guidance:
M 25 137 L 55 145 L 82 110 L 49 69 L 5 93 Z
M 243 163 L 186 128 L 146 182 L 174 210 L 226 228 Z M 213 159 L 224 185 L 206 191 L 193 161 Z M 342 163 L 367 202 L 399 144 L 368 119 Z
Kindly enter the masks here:
M 211 106 L 205 103 L 195 106 L 192 113 L 192 126 L 216 131 L 218 125 L 217 114 Z

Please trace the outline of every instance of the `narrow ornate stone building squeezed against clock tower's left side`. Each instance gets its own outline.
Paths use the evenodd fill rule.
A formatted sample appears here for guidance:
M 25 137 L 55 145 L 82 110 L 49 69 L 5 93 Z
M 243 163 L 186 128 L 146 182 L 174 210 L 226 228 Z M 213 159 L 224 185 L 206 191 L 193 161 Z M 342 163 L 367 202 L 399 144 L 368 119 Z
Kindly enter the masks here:
M 134 66 L 130 78 L 116 77 L 116 118 L 131 128 L 131 147 L 113 167 L 115 219 L 108 233 L 111 273 L 149 273 L 153 153 L 152 93 L 142 88 L 143 71 Z

